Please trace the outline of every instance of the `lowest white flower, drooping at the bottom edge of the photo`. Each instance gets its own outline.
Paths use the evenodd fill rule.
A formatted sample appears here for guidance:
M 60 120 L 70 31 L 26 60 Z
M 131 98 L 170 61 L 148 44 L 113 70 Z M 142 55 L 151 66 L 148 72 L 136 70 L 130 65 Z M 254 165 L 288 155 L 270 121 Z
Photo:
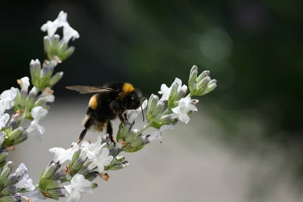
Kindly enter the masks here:
M 71 184 L 65 185 L 64 188 L 68 192 L 66 194 L 67 201 L 78 201 L 81 199 L 81 192 L 93 193 L 91 188 L 92 183 L 85 179 L 83 175 L 76 174 L 72 180 Z

